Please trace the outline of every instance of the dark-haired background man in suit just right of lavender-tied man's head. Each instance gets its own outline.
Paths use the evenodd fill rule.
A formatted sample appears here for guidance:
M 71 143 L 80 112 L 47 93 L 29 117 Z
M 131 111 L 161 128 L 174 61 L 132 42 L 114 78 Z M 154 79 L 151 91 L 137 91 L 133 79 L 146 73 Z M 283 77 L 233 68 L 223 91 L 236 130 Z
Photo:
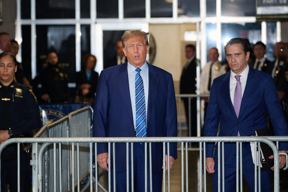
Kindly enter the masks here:
M 266 54 L 266 46 L 261 41 L 258 41 L 253 48 L 254 55 L 256 57 L 255 62 L 253 63 L 253 68 L 263 71 L 265 73 L 271 74 L 271 61 L 266 59 L 264 55 Z

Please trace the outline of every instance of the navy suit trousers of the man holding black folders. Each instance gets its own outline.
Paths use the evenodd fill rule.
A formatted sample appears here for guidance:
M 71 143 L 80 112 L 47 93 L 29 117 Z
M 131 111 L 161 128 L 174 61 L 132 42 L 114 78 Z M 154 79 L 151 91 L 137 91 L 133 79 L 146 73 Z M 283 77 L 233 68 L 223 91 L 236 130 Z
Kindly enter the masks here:
M 220 152 L 221 153 L 221 152 Z M 217 151 L 215 152 L 216 158 L 214 158 L 215 166 L 212 176 L 213 191 L 218 191 L 218 164 L 217 164 Z M 220 191 L 222 191 L 222 157 L 220 160 Z M 224 161 L 225 163 L 225 161 Z M 231 164 L 224 165 L 224 188 L 225 191 L 233 192 L 236 191 L 236 153 Z M 240 154 L 239 154 L 239 185 L 240 185 Z M 242 144 L 242 174 L 248 184 L 250 191 L 255 191 L 254 189 L 254 163 L 252 160 L 250 144 Z M 257 180 L 258 180 L 258 170 L 257 170 Z M 271 180 L 271 170 L 261 170 L 261 191 L 270 192 L 270 180 Z M 239 188 L 240 191 L 240 188 Z M 257 191 L 258 182 L 257 182 Z

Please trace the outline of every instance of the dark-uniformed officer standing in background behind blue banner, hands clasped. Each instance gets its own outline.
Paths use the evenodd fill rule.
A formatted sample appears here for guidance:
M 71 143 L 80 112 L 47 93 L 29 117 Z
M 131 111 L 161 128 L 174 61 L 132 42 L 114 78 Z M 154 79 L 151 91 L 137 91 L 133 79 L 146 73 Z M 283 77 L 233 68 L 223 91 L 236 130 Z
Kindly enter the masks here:
M 48 65 L 35 77 L 36 85 L 42 85 L 41 102 L 64 103 L 68 99 L 67 74 L 58 66 L 58 56 L 55 52 L 47 54 L 46 63 Z

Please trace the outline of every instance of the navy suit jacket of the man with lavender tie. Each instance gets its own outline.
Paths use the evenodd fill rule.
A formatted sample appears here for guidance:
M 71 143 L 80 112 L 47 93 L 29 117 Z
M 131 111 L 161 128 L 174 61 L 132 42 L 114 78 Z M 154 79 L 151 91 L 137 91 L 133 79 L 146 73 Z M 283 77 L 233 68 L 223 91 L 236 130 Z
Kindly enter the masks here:
M 230 98 L 230 71 L 213 80 L 210 90 L 204 136 L 254 135 L 256 129 L 267 129 L 266 111 L 273 125 L 275 135 L 288 135 L 287 124 L 270 74 L 253 69 L 249 65 L 246 87 L 237 119 Z M 214 143 L 206 145 L 206 157 L 213 156 Z M 288 150 L 287 143 L 280 143 L 279 150 Z M 235 143 L 224 145 L 225 164 L 230 164 L 236 153 Z M 216 154 L 216 153 L 215 153 Z M 215 159 L 215 158 L 214 158 Z

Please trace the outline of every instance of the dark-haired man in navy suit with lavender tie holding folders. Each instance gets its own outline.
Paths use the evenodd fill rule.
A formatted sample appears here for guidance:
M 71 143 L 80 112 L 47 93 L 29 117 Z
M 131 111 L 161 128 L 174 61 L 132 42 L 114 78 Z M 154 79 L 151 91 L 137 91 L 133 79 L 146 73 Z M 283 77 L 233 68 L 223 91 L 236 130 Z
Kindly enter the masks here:
M 231 71 L 214 79 L 205 119 L 204 136 L 249 136 L 256 129 L 267 129 L 266 111 L 275 135 L 288 135 L 287 124 L 270 74 L 253 69 L 248 64 L 250 52 L 241 38 L 231 39 L 224 47 Z M 206 170 L 213 174 L 213 189 L 217 191 L 217 149 L 214 143 L 206 145 Z M 280 152 L 287 153 L 286 143 L 280 143 Z M 274 158 L 270 156 L 269 158 Z M 236 145 L 225 143 L 225 191 L 236 191 Z M 249 143 L 242 144 L 243 176 L 250 191 L 254 190 L 254 164 Z M 280 168 L 285 156 L 280 156 Z M 221 168 L 222 169 L 222 168 Z M 271 167 L 273 170 L 274 167 Z M 261 191 L 270 190 L 271 170 L 261 170 Z M 221 176 L 222 178 L 222 176 Z M 222 181 L 221 181 L 222 183 Z M 222 186 L 221 186 L 222 188 Z M 221 189 L 222 190 L 222 189 Z

